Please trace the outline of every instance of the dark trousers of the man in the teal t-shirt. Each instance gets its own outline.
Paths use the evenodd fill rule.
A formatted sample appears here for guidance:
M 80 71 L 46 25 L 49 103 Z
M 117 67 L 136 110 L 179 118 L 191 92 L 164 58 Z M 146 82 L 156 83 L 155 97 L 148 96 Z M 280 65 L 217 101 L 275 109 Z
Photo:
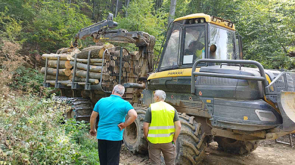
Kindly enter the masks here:
M 98 139 L 100 165 L 119 165 L 122 142 Z

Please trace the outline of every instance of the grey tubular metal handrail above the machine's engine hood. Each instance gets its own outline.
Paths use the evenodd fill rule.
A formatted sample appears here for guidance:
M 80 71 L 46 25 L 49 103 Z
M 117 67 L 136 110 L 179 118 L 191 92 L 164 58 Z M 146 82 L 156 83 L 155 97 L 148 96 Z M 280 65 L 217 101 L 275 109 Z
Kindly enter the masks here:
M 243 76 L 243 75 L 231 75 L 222 73 L 206 73 L 206 72 L 195 72 L 197 65 L 201 62 L 214 62 L 214 63 L 234 63 L 234 64 L 250 64 L 256 65 L 259 69 L 261 77 L 256 76 Z M 233 59 L 199 59 L 197 60 L 192 68 L 191 76 L 191 93 L 195 93 L 195 76 L 208 76 L 208 77 L 219 77 L 219 78 L 229 78 L 229 79 L 241 79 L 241 80 L 254 80 L 262 81 L 264 87 L 266 87 L 266 73 L 261 63 L 253 60 L 233 60 Z

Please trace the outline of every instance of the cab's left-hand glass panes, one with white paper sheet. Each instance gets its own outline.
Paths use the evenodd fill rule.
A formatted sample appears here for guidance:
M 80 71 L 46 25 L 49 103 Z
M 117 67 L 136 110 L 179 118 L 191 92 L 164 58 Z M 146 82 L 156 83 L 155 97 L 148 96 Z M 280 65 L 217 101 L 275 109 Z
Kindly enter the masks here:
M 159 70 L 176 69 L 181 64 L 189 67 L 198 59 L 205 58 L 205 25 L 185 27 L 184 35 L 181 27 L 180 24 L 174 23 Z

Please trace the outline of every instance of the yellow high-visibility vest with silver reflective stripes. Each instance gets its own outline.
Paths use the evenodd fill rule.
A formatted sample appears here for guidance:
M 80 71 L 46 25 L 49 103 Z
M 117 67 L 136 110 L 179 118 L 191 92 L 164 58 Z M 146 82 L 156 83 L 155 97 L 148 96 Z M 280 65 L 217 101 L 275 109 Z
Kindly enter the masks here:
M 148 141 L 151 143 L 169 143 L 175 134 L 175 109 L 165 103 L 157 102 L 150 105 L 151 123 L 148 127 Z

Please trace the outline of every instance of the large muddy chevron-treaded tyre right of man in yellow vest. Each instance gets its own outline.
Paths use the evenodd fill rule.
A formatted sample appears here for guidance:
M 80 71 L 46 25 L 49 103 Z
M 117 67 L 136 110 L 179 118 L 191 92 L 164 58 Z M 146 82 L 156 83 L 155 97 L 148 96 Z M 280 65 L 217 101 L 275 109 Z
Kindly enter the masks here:
M 176 141 L 176 165 L 198 165 L 204 158 L 207 148 L 206 135 L 202 134 L 201 124 L 194 116 L 178 113 L 181 130 Z

